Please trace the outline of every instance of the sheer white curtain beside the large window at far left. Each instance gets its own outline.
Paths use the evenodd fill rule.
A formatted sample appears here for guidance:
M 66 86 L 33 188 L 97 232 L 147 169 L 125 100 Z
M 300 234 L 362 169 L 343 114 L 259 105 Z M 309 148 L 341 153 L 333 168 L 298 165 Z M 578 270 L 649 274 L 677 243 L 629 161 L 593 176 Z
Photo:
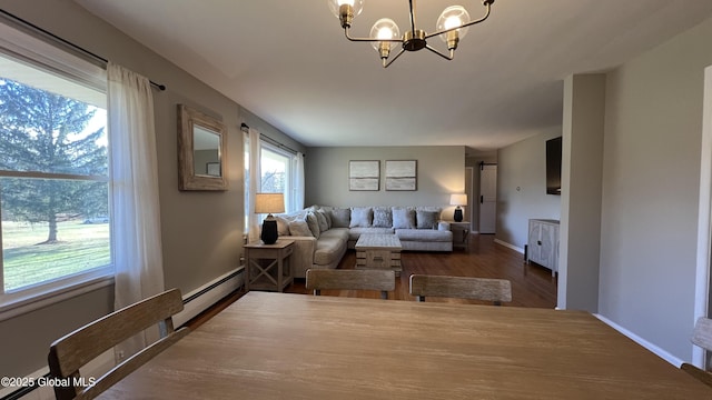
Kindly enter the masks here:
M 108 116 L 113 184 L 115 309 L 164 291 L 154 98 L 147 78 L 109 62 Z M 156 340 L 147 331 L 117 347 L 128 358 Z

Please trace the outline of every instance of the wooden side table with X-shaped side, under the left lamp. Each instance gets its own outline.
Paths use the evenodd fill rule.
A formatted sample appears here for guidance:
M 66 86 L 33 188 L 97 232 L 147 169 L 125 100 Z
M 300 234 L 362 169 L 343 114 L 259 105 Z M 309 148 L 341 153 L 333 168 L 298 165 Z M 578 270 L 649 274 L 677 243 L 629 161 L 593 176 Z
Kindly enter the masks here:
M 245 290 L 261 289 L 283 291 L 294 281 L 289 256 L 294 240 L 278 239 L 274 244 L 261 241 L 245 244 Z

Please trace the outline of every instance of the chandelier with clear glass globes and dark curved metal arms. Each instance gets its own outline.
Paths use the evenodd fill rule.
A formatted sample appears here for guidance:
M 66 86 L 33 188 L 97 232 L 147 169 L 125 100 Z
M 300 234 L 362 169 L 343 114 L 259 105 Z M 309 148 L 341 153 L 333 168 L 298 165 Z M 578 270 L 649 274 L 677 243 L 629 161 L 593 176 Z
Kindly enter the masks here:
M 369 38 L 353 38 L 349 34 L 349 29 L 352 28 L 354 17 L 357 17 L 364 9 L 364 0 L 328 0 L 332 12 L 342 22 L 346 39 L 357 42 L 370 42 L 380 56 L 384 68 L 390 66 L 405 51 L 418 51 L 422 49 L 428 49 L 446 60 L 452 60 L 455 57 L 455 50 L 457 49 L 459 39 L 464 38 L 467 33 L 467 27 L 486 20 L 487 17 L 490 17 L 490 8 L 492 3 L 494 3 L 494 0 L 484 0 L 482 2 L 486 8 L 485 14 L 475 21 L 469 20 L 469 13 L 462 6 L 451 6 L 446 8 L 437 19 L 437 23 L 435 24 L 436 32 L 434 33 L 426 33 L 416 27 L 415 1 L 409 0 L 408 2 L 411 4 L 411 29 L 403 33 L 403 36 L 400 36 L 398 26 L 392 19 L 382 18 L 370 28 Z M 447 43 L 447 53 L 427 43 L 429 38 L 436 36 L 439 36 L 443 41 Z M 388 59 L 390 57 L 390 50 L 396 43 L 400 43 L 400 51 Z

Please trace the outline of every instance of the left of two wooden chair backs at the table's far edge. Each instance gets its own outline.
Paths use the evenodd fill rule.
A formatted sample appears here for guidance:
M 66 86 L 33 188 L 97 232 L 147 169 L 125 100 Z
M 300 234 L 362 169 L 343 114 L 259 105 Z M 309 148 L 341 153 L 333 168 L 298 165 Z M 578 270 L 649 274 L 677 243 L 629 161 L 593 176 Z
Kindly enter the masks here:
M 314 290 L 314 296 L 322 294 L 322 289 L 379 290 L 385 300 L 396 288 L 396 274 L 392 270 L 308 269 L 306 288 Z

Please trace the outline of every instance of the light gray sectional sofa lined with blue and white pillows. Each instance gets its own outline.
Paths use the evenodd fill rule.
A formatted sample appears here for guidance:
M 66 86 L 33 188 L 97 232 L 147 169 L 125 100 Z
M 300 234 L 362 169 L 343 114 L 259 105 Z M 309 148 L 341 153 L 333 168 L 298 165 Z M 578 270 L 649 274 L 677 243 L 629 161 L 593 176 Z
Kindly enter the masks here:
M 280 237 L 295 240 L 290 258 L 295 278 L 309 268 L 334 269 L 362 234 L 396 234 L 403 250 L 452 251 L 453 233 L 441 207 L 313 206 L 276 216 Z

